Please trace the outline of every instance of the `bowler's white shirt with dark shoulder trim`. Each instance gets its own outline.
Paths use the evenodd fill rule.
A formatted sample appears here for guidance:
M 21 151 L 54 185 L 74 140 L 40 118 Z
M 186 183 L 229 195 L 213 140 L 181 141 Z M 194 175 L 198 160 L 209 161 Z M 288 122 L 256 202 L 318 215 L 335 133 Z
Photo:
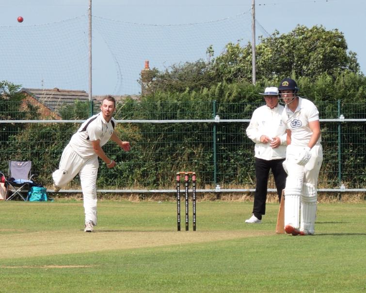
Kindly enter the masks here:
M 69 145 L 81 158 L 92 158 L 96 156 L 92 141 L 99 139 L 100 146 L 104 146 L 111 138 L 113 125 L 116 125 L 113 117 L 107 122 L 102 113 L 95 114 L 81 125 L 71 137 Z

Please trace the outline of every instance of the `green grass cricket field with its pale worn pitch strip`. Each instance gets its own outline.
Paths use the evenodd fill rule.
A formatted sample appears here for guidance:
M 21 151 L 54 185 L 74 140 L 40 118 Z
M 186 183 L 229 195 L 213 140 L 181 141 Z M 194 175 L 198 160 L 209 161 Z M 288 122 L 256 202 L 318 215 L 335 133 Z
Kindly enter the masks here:
M 0 292 L 366 292 L 365 202 L 319 203 L 314 236 L 275 234 L 277 203 L 251 211 L 199 201 L 178 232 L 173 201 L 100 200 L 84 233 L 82 201 L 1 201 Z

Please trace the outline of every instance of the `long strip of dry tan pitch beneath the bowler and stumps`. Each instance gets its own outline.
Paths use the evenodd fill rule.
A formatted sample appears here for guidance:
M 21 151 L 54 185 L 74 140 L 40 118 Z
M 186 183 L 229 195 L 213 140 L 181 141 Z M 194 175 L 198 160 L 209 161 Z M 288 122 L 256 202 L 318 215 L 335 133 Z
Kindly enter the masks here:
M 7 235 L 1 259 L 204 243 L 273 235 L 267 231 L 42 231 Z

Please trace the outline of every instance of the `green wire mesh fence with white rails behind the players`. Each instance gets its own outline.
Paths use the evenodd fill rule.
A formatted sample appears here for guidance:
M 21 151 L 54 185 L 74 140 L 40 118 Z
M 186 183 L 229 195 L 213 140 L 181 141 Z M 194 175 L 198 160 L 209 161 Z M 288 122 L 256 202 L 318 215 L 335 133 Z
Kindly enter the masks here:
M 366 188 L 366 111 L 359 104 L 315 102 L 320 112 L 324 161 L 318 188 Z M 195 171 L 197 188 L 255 188 L 254 143 L 245 134 L 255 108 L 262 104 L 199 102 L 142 103 L 127 100 L 117 105 L 116 131 L 131 143 L 126 153 L 113 142 L 104 149 L 118 162 L 113 169 L 100 164 L 98 189 L 174 189 L 175 173 Z M 80 106 L 80 103 L 79 103 Z M 38 105 L 0 104 L 0 170 L 8 161 L 31 160 L 33 173 L 52 185 L 64 146 L 90 113 L 80 107 L 59 110 L 60 120 L 48 120 Z M 10 113 L 9 109 L 20 109 Z M 67 112 L 67 111 L 68 112 Z M 73 112 L 74 120 L 62 120 Z M 87 110 L 88 111 L 88 110 Z M 94 113 L 98 109 L 95 108 Z M 341 116 L 343 115 L 343 116 Z M 7 118 L 8 117 L 8 118 Z M 76 178 L 68 188 L 79 189 Z M 271 182 L 270 188 L 274 188 Z

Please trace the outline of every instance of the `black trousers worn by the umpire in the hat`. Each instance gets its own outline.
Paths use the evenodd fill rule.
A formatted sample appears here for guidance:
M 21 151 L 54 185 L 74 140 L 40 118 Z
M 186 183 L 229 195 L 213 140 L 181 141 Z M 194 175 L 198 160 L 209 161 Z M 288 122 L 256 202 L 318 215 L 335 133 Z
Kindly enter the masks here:
M 281 200 L 282 190 L 285 189 L 287 177 L 282 165 L 282 162 L 284 161 L 285 159 L 267 161 L 255 158 L 256 187 L 254 194 L 253 214 L 259 220 L 262 219 L 262 215 L 266 214 L 267 185 L 270 170 L 272 170 L 278 198 Z

